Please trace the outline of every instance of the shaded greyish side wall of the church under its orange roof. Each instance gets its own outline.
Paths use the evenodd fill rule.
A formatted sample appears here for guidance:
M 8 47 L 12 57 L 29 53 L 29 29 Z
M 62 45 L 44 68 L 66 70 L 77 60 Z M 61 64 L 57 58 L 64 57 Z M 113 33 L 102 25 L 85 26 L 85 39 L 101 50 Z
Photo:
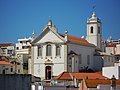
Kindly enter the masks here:
M 69 44 L 68 45 L 68 53 L 70 51 L 74 51 L 76 54 L 81 55 L 81 64 L 80 67 L 89 66 L 89 68 L 93 69 L 93 54 L 95 48 L 89 46 L 83 46 L 80 44 Z M 90 65 L 87 64 L 87 55 L 90 55 Z

